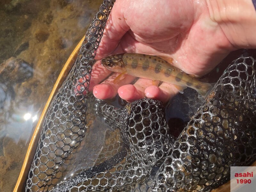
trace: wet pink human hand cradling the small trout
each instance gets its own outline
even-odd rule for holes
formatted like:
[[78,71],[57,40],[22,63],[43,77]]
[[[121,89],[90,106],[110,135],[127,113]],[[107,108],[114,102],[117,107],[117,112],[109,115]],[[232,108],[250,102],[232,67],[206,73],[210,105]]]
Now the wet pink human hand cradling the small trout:
[[[202,76],[211,71],[236,47],[222,27],[210,18],[208,1],[117,0],[109,16],[96,58],[124,52],[164,55],[174,58],[178,68]],[[98,99],[119,96],[127,101],[143,97],[168,101],[178,90],[168,83],[159,87],[152,80],[134,77],[113,83],[118,74],[96,62],[90,91]]]

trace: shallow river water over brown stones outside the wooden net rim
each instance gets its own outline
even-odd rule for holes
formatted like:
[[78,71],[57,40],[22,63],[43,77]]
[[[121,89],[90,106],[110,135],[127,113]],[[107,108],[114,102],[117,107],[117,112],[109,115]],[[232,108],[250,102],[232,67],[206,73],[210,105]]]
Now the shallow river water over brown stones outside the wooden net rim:
[[101,0],[0,1],[0,191],[12,191],[52,87]]

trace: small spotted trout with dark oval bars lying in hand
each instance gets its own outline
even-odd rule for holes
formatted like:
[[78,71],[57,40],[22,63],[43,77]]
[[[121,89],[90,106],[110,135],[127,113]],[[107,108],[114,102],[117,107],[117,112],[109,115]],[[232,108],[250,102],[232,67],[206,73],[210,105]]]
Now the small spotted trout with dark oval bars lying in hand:
[[101,64],[108,70],[121,73],[121,75],[128,74],[176,84],[184,88],[190,87],[204,97],[212,88],[212,84],[198,81],[157,56],[137,53],[117,54],[104,57],[101,59]]

